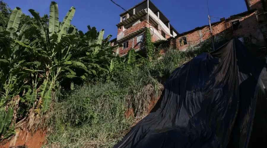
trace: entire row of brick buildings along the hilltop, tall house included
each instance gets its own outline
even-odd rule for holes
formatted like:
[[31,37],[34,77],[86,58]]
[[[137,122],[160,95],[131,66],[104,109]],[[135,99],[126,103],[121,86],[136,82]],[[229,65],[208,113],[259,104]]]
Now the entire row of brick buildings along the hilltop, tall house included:
[[148,19],[152,42],[168,40],[170,47],[174,49],[186,50],[189,46],[200,44],[212,36],[215,40],[237,37],[246,45],[256,45],[253,48],[264,49],[267,36],[267,0],[245,0],[245,3],[248,11],[226,19],[220,18],[220,21],[212,23],[211,35],[209,25],[178,33],[150,0],[149,8],[147,0],[144,0],[120,14],[117,38],[111,41],[111,45],[123,45],[115,51],[120,56],[126,55],[132,48],[145,56],[144,31],[147,29]]

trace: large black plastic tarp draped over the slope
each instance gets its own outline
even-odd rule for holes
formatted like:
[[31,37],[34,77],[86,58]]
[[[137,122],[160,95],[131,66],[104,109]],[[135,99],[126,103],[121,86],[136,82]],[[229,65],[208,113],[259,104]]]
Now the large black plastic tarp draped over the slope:
[[238,39],[177,68],[115,148],[267,147],[265,63]]

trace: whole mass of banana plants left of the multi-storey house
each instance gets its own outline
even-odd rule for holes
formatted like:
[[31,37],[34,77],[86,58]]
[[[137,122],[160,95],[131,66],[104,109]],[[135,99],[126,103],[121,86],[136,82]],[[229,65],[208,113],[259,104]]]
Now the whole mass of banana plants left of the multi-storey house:
[[56,90],[63,96],[88,79],[108,80],[114,61],[120,59],[113,54],[117,46],[109,46],[111,35],[103,38],[104,30],[88,26],[83,34],[70,25],[74,7],[59,23],[58,6],[51,2],[48,26],[33,9],[29,12],[39,29],[28,21],[18,30],[19,7],[12,11],[6,30],[0,27],[0,135],[6,135],[9,126],[13,131],[20,128],[16,123],[25,119],[33,122],[29,130],[36,128],[38,122],[29,117],[39,120]]

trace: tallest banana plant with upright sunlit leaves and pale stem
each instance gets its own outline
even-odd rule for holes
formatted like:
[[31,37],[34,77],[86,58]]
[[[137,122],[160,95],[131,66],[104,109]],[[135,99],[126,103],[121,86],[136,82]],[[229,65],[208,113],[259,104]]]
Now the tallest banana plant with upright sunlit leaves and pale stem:
[[[61,78],[64,77],[63,71],[77,64],[75,62],[69,64],[71,50],[75,41],[78,39],[73,35],[73,30],[75,30],[74,26],[70,25],[75,11],[76,9],[71,7],[64,17],[63,22],[59,24],[58,4],[52,1],[50,4],[49,24],[48,28],[46,28],[39,14],[35,10],[29,9],[29,12],[34,16],[37,24],[40,26],[41,34],[40,41],[38,42],[39,46],[33,48],[38,49],[38,59],[45,59],[42,61],[42,66],[40,66],[42,69],[45,69],[45,73],[42,73],[45,79],[43,79],[42,85],[40,86],[41,91],[36,94],[37,97],[40,98],[36,108],[37,112],[40,112],[41,107],[43,112],[47,111],[53,91],[58,83],[60,83]],[[62,64],[64,64],[64,62],[68,62],[68,64],[65,63],[63,66]],[[84,68],[82,66],[80,67]],[[74,75],[66,75],[66,77],[74,77]],[[32,91],[29,93],[29,96],[34,96],[34,93],[35,92]]]

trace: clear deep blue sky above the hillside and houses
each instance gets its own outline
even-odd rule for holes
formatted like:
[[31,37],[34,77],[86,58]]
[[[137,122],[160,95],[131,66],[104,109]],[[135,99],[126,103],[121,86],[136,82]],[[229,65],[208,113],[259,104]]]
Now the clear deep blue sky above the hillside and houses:
[[[113,0],[125,9],[133,7],[142,0]],[[170,20],[171,25],[179,32],[208,25],[208,7],[206,0],[151,0]],[[28,9],[34,9],[40,15],[48,14],[50,0],[4,0],[11,9],[20,7],[23,13],[30,15]],[[59,20],[62,21],[67,11],[74,6],[76,13],[71,24],[83,32],[87,25],[97,30],[105,29],[105,35],[117,36],[116,24],[123,10],[110,0],[55,0],[59,7]],[[247,11],[244,0],[208,0],[211,16],[229,17]],[[212,22],[219,21],[212,18]]]

